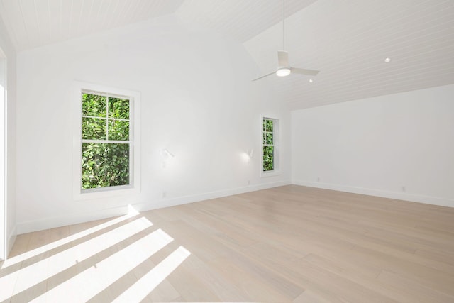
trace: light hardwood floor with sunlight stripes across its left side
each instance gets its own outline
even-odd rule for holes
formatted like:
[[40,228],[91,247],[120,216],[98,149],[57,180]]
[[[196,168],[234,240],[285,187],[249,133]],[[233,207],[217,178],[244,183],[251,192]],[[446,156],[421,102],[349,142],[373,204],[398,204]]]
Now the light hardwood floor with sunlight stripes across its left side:
[[1,293],[0,302],[454,302],[454,208],[290,185],[38,231],[18,236]]

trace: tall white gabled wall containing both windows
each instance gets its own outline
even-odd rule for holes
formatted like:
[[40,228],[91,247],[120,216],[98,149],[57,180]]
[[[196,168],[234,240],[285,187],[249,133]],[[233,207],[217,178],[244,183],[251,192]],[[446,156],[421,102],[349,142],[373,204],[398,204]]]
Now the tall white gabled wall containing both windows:
[[[19,53],[19,233],[113,216],[127,204],[151,209],[288,184],[288,158],[281,175],[260,178],[260,114],[281,119],[287,155],[290,114],[266,82],[250,81],[259,74],[242,45],[174,16]],[[140,92],[137,196],[74,201],[74,80]],[[175,155],[165,168],[162,148]]]

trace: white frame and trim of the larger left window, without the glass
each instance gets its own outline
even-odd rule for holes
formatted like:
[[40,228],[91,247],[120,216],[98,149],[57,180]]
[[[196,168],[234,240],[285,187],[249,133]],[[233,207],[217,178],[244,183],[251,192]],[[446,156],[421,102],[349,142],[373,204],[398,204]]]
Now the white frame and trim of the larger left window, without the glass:
[[[109,97],[129,99],[129,184],[112,187],[82,189],[82,94],[92,93]],[[96,199],[102,197],[123,196],[140,192],[140,93],[106,87],[103,85],[74,82],[73,87],[73,198],[75,200]],[[106,117],[108,118],[108,117]],[[111,140],[93,140],[99,143],[112,143]],[[101,142],[102,141],[102,142]],[[115,141],[116,142],[116,141]],[[124,141],[123,141],[124,142]],[[125,143],[123,143],[125,144]]]

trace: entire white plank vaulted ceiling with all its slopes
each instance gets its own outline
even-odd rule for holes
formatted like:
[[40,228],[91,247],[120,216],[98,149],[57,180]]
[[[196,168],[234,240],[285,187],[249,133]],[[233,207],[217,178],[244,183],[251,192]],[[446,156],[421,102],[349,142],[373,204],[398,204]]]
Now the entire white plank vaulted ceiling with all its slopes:
[[[292,109],[454,84],[453,0],[285,4],[290,64],[321,72],[258,81]],[[0,0],[18,51],[170,13],[243,43],[263,74],[275,70],[283,37],[279,0]]]

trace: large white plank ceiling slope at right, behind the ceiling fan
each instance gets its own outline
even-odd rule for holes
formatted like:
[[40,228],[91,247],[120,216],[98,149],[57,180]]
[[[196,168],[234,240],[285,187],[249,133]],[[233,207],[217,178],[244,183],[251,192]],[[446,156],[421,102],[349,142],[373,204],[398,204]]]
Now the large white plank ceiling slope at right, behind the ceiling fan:
[[[265,79],[291,109],[454,84],[452,0],[318,0],[285,27],[292,64],[321,70],[313,82]],[[273,70],[282,24],[244,45],[262,72]]]

